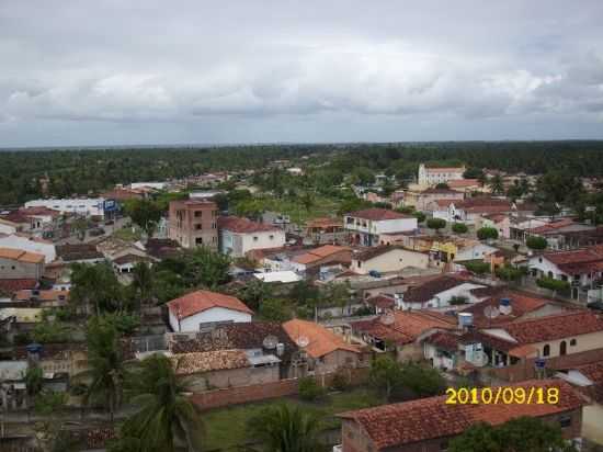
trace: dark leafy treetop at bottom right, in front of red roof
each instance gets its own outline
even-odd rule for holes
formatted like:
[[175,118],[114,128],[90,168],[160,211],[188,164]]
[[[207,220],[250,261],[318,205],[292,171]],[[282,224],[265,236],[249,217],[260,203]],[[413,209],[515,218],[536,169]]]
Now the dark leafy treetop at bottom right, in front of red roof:
[[521,417],[492,427],[476,423],[454,438],[450,452],[576,452],[561,428],[538,418]]

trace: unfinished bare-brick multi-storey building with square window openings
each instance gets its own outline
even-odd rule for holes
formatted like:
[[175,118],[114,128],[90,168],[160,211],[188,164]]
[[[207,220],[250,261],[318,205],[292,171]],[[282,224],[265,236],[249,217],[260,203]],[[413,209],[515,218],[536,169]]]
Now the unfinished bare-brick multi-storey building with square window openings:
[[168,237],[182,248],[218,249],[218,207],[211,201],[172,201]]

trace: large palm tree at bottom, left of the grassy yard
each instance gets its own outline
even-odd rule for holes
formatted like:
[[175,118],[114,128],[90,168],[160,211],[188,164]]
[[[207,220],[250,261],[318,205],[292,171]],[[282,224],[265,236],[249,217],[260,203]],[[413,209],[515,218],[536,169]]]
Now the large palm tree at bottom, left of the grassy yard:
[[153,354],[130,376],[132,403],[139,409],[124,423],[124,440],[135,439],[140,451],[201,451],[204,428],[200,409],[184,395],[186,386],[177,380],[170,360]]

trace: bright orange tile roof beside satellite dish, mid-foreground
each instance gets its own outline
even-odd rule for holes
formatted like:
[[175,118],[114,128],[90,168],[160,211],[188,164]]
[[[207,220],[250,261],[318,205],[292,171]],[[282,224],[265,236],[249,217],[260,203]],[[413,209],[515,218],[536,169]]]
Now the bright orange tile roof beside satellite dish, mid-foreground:
[[312,358],[320,358],[337,350],[361,352],[357,347],[345,342],[340,336],[314,321],[294,319],[284,323],[283,328],[296,343],[302,336],[308,338],[309,343],[305,350]]

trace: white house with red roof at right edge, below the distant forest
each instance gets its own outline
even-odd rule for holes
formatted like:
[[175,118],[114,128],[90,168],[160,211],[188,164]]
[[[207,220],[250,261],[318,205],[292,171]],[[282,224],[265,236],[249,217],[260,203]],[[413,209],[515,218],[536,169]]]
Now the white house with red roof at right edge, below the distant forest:
[[527,265],[533,276],[568,281],[572,297],[579,298],[580,289],[595,289],[603,275],[603,245],[544,252],[531,257]]

